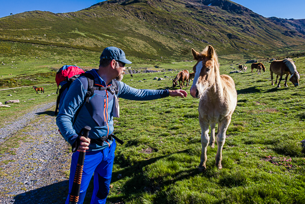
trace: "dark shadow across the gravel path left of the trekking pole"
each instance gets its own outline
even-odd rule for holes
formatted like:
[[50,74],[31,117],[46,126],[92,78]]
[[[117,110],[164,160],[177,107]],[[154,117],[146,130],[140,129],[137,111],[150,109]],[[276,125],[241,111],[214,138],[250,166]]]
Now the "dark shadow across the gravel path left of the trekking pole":
[[68,183],[68,180],[62,181],[16,195],[14,203],[65,203],[68,196]]

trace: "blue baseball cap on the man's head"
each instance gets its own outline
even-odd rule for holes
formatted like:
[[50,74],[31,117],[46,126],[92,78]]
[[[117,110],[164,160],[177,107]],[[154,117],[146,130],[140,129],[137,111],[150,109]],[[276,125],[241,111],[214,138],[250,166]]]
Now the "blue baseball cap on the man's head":
[[132,64],[126,59],[125,52],[117,47],[106,47],[100,56],[100,66],[108,66],[109,63],[115,60],[120,62],[125,67],[125,64]]

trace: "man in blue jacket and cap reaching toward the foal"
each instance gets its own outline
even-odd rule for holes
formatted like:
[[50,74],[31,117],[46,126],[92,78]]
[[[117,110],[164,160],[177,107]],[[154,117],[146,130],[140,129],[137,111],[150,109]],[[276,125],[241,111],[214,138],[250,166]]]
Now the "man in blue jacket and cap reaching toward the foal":
[[[85,76],[80,76],[71,83],[59,109],[56,124],[75,151],[70,167],[69,194],[72,190],[79,151],[86,152],[78,203],[83,203],[93,174],[94,190],[91,203],[106,202],[116,141],[120,141],[112,135],[113,116],[119,116],[118,97],[129,100],[154,100],[168,96],[187,97],[184,90],[140,90],[121,82],[125,65],[131,63],[126,59],[123,50],[117,47],[105,48],[100,56],[99,69],[86,72],[93,75],[95,89],[101,88],[101,90],[95,90],[95,94],[84,101],[88,80]],[[75,115],[77,111],[78,116]],[[84,126],[91,128],[88,138],[77,134]],[[66,203],[69,203],[69,195]]]

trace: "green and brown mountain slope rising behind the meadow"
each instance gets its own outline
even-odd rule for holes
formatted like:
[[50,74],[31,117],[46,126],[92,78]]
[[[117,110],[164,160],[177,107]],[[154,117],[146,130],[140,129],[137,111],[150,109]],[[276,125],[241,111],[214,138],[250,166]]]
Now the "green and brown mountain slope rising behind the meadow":
[[137,57],[179,59],[207,44],[219,54],[246,55],[303,45],[304,24],[265,18],[226,0],[112,0],[71,13],[0,18],[0,40],[94,51],[113,45]]

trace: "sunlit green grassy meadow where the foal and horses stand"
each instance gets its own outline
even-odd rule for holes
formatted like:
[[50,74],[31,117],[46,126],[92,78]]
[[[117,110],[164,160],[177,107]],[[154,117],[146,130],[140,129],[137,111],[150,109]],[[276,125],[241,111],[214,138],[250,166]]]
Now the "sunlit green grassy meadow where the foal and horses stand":
[[[74,60],[79,61],[76,64],[81,67],[97,67],[93,57],[88,57],[92,64],[84,63],[86,59],[69,58],[70,62],[60,59],[57,63],[54,57],[49,59],[50,62],[47,58],[11,60],[20,65],[20,71],[13,72],[14,75],[8,75],[12,63],[0,65],[1,73],[6,73],[4,79],[12,79],[11,85],[1,85],[1,89],[18,86],[18,89],[0,91],[0,102],[20,100],[18,104],[11,104],[11,108],[0,109],[0,127],[16,118],[17,112],[22,115],[32,107],[55,101],[56,94],[53,93],[57,86],[54,78],[56,69],[62,66],[60,61],[69,64]],[[28,64],[23,64],[25,60]],[[36,66],[38,60],[43,63]],[[215,166],[217,147],[208,147],[207,169],[198,171],[201,154],[199,100],[191,97],[190,87],[184,88],[189,94],[187,98],[120,99],[120,118],[114,119],[114,133],[125,143],[117,144],[107,203],[117,200],[147,204],[305,203],[305,154],[300,143],[305,139],[305,57],[293,60],[301,75],[300,85],[295,88],[287,82],[286,88],[282,81],[279,89],[271,85],[266,61],[262,61],[266,72],[258,75],[251,73],[251,64],[248,64],[246,73],[229,74],[238,69],[238,63],[246,61],[220,60],[221,74],[234,79],[238,94],[227,130],[221,170]],[[154,63],[162,69],[189,71],[195,64],[149,62],[145,65],[141,62],[135,66],[154,67]],[[32,67],[37,68],[36,73],[25,71]],[[140,73],[133,74],[133,78],[125,75],[123,81],[138,89],[172,89],[171,79],[177,73]],[[22,74],[29,78],[28,81],[18,78]],[[153,80],[156,76],[165,80]],[[36,94],[32,89],[34,84],[44,85],[45,93]],[[7,96],[9,94],[13,96]],[[33,98],[35,100],[28,100]],[[92,188],[93,183],[89,191]],[[85,203],[89,202],[87,197]]]

